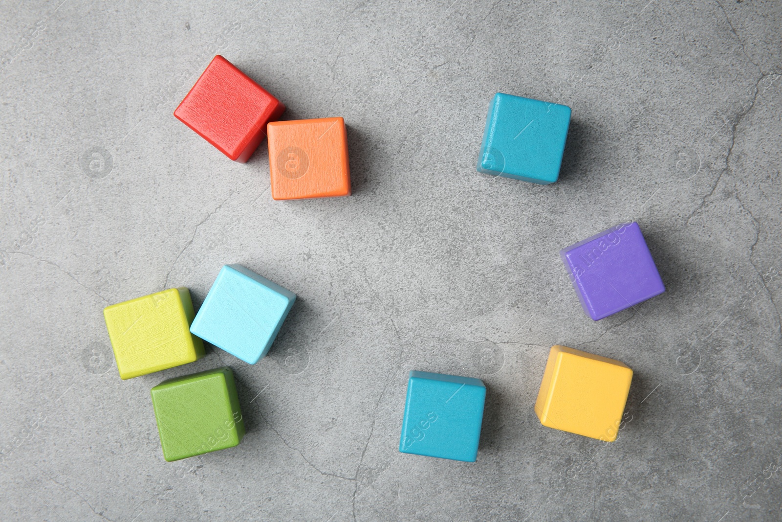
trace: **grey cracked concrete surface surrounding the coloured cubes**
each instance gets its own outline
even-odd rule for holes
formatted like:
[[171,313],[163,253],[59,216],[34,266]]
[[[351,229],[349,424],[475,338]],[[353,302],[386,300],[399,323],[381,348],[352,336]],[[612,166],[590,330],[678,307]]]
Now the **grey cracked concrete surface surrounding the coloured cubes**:
[[[0,2],[2,520],[782,519],[779,2],[60,2]],[[353,196],[172,116],[217,52]],[[556,184],[475,172],[497,91],[572,107]],[[592,322],[558,251],[626,219],[668,291]],[[270,355],[120,381],[102,308],[228,262],[299,296]],[[634,369],[615,443],[540,426],[552,344]],[[166,463],[150,387],[218,365],[249,433]],[[398,452],[410,369],[486,382],[477,463]]]

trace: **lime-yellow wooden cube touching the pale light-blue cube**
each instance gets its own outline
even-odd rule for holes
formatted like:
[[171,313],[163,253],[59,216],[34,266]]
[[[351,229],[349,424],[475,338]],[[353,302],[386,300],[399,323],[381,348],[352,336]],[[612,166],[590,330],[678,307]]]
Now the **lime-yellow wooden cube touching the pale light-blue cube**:
[[203,341],[190,333],[190,291],[171,288],[103,309],[120,378],[194,362],[203,357]]

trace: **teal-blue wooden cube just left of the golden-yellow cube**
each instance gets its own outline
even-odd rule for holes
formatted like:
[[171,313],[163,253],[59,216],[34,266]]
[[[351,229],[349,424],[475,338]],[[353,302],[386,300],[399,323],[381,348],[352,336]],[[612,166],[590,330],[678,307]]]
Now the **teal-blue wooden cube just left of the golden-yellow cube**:
[[485,400],[480,379],[411,372],[399,451],[474,463]]

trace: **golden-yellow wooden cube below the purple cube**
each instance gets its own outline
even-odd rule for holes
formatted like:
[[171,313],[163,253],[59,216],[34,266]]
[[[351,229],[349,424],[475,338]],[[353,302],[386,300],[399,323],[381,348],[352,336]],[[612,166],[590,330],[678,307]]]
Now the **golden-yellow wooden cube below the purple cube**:
[[553,346],[535,412],[543,426],[615,441],[633,370],[622,362]]

